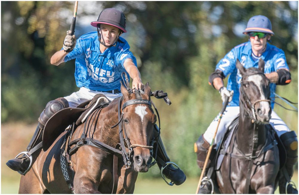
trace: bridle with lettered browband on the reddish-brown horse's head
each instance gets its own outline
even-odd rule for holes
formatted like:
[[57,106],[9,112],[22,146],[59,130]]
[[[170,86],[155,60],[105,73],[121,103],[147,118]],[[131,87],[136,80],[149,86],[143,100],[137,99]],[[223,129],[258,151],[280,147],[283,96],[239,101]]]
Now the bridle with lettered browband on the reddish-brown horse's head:
[[[130,165],[133,162],[133,160],[132,160],[132,158],[133,158],[133,148],[135,148],[135,147],[148,148],[148,149],[150,149],[151,156],[153,156],[153,150],[152,149],[154,148],[155,137],[154,137],[154,134],[153,134],[153,138],[151,140],[151,146],[144,146],[144,145],[140,145],[140,144],[131,144],[130,143],[130,139],[127,136],[126,129],[125,129],[125,123],[124,123],[124,120],[123,120],[123,115],[124,115],[123,110],[125,109],[125,107],[128,107],[130,105],[134,105],[134,104],[147,104],[151,107],[151,101],[148,101],[148,100],[145,100],[145,99],[134,99],[134,100],[126,101],[123,104],[123,106],[121,107],[122,99],[123,99],[123,96],[119,99],[119,109],[118,109],[119,110],[118,111],[119,122],[117,122],[111,128],[114,128],[117,125],[119,125],[120,148],[121,148],[121,151],[122,151],[122,156],[123,156],[123,160],[124,160],[124,163],[126,165],[126,168],[129,168]],[[153,129],[153,131],[154,131],[154,129]],[[124,137],[124,134],[125,134],[125,137]],[[126,151],[126,148],[128,148],[128,152]]]

